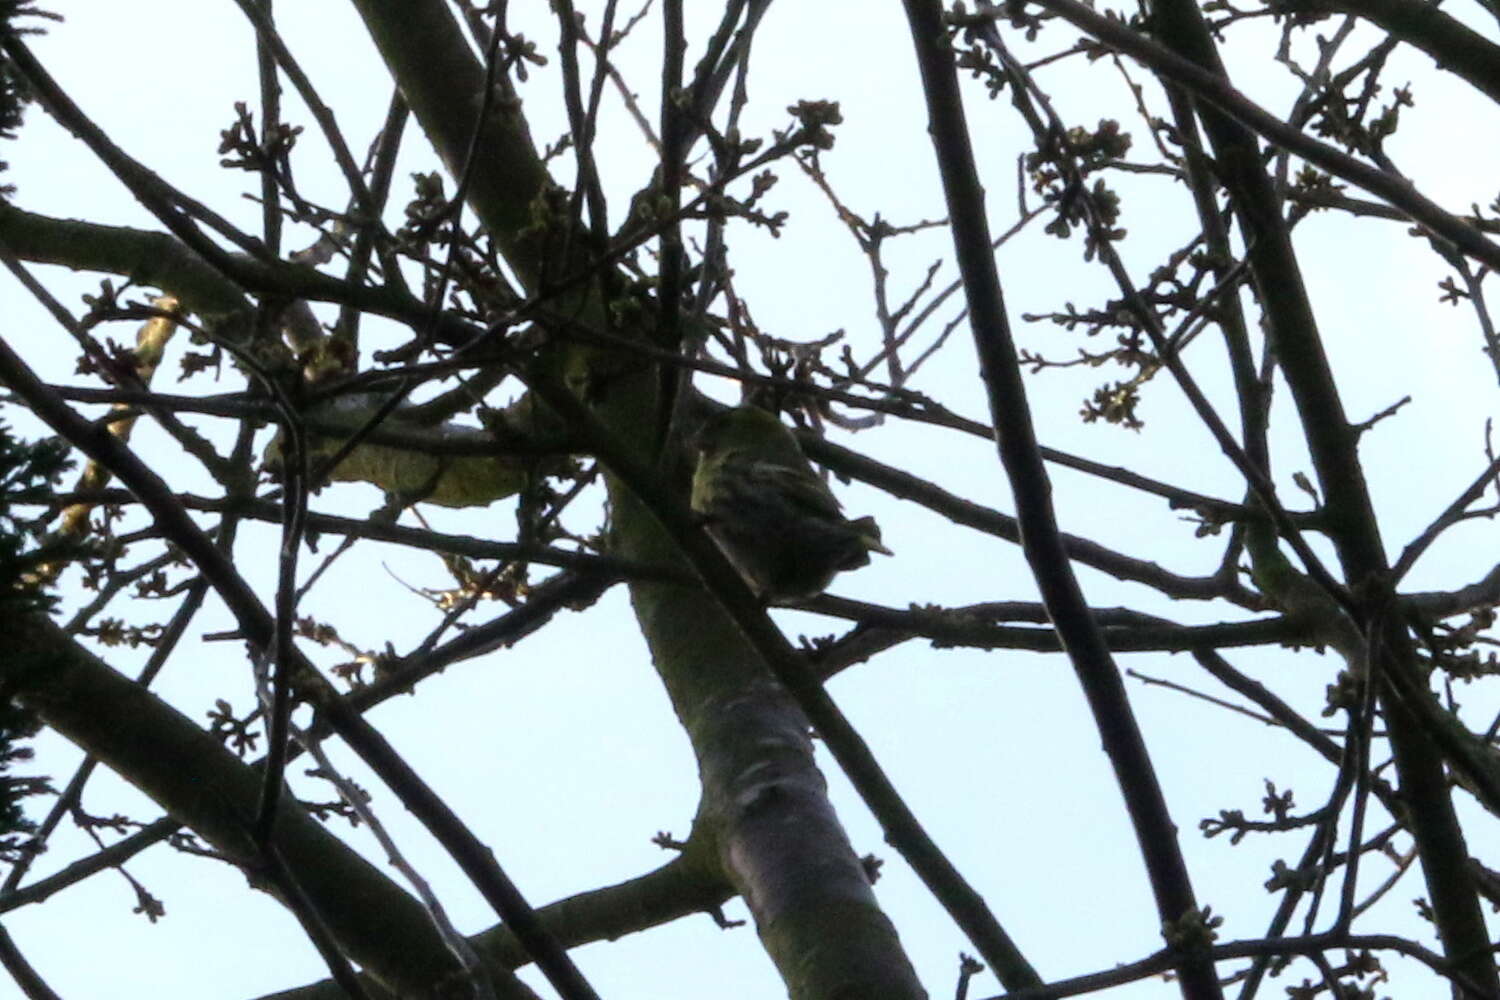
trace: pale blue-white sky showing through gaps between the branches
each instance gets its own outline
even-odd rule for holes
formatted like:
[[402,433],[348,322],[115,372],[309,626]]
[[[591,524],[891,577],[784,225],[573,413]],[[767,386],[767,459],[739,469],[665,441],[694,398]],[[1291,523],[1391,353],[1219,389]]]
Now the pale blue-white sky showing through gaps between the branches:
[[[717,4],[688,6],[696,13]],[[216,153],[219,130],[232,120],[232,103],[248,100],[254,106],[256,93],[252,36],[234,6],[142,0],[69,4],[64,13],[69,19],[51,27],[46,37],[34,42],[34,49],[84,111],[166,180],[246,229],[258,229],[256,205],[242,198],[258,186],[246,174],[220,169]],[[537,22],[544,13],[540,3],[512,4],[512,25],[555,55],[550,28],[544,19]],[[282,3],[278,18],[324,99],[336,108],[351,144],[363,150],[384,115],[390,82],[351,9],[338,3]],[[597,18],[591,24],[597,25]],[[706,28],[704,21],[690,25],[694,43],[690,64]],[[632,85],[652,115],[658,34],[658,13],[652,10],[622,55]],[[1060,45],[1050,40],[1048,51]],[[772,127],[784,127],[786,106],[798,99],[836,99],[843,106],[844,124],[837,129],[837,147],[825,165],[840,196],[856,211],[866,216],[879,211],[897,225],[944,214],[900,4],[856,0],[776,4],[756,52],[746,133],[766,135]],[[1269,52],[1268,42],[1258,49],[1232,52],[1228,61],[1232,70],[1250,73],[1236,79],[1252,96],[1282,112],[1296,82]],[[548,67],[534,70],[522,88],[538,144],[552,142],[564,127],[555,70],[554,58]],[[1134,73],[1137,79],[1146,78],[1138,69]],[[1092,127],[1101,117],[1122,118],[1137,136],[1132,159],[1144,157],[1140,144],[1149,139],[1140,120],[1131,117],[1108,60],[1088,67],[1071,60],[1041,79],[1054,88],[1059,111],[1070,123]],[[1398,54],[1388,79],[1419,81],[1418,106],[1392,145],[1401,166],[1450,210],[1492,199],[1492,136],[1500,124],[1494,109],[1473,108],[1472,114],[1486,117],[1464,118],[1474,102],[1462,88],[1434,79],[1424,58]],[[1029,147],[1004,99],[986,103],[981,91],[970,97],[970,126],[987,169],[992,228],[1000,231],[1016,219],[1016,159]],[[342,204],[338,174],[316,129],[291,94],[286,114],[309,126],[297,159],[303,190],[328,204]],[[1455,121],[1466,121],[1466,127],[1455,129]],[[1466,144],[1473,148],[1466,150]],[[650,175],[652,165],[650,148],[618,102],[608,105],[600,150],[618,222],[628,193]],[[158,228],[81,144],[39,109],[33,109],[21,139],[0,150],[0,156],[12,163],[6,180],[18,186],[15,201],[26,208]],[[408,196],[404,180],[410,171],[434,166],[434,157],[412,129],[393,205]],[[782,184],[771,195],[771,207],[790,211],[790,223],[778,240],[734,226],[738,291],[759,325],[778,337],[813,340],[844,330],[856,355],[868,355],[878,343],[868,265],[798,171],[788,163],[778,172]],[[1140,280],[1162,252],[1191,234],[1194,223],[1184,214],[1186,201],[1172,181],[1140,180],[1130,186],[1130,195],[1122,220],[1131,231],[1125,255],[1140,268]],[[288,246],[306,241],[310,241],[306,231],[292,228]],[[1402,235],[1400,223],[1350,225],[1317,217],[1298,231],[1298,249],[1322,310],[1335,370],[1344,373],[1341,388],[1350,417],[1360,420],[1401,396],[1414,397],[1400,418],[1383,424],[1365,444],[1377,502],[1389,526],[1388,546],[1395,552],[1480,468],[1484,421],[1496,402],[1494,370],[1478,351],[1472,313],[1437,303],[1436,282],[1442,271],[1420,241]],[[892,244],[888,258],[892,294],[908,294],[927,264],[946,255],[944,231]],[[1023,343],[1053,357],[1068,357],[1077,346],[1098,349],[1100,345],[1080,343],[1044,324],[1018,319],[1024,312],[1059,309],[1065,301],[1092,306],[1107,295],[1107,276],[1082,261],[1080,240],[1062,243],[1032,232],[1014,247],[1002,249],[999,262]],[[78,295],[99,280],[56,268],[38,270],[75,307]],[[952,267],[945,264],[938,282],[952,277]],[[951,309],[942,313],[951,315]],[[368,328],[370,348],[402,339],[390,327]],[[48,378],[82,381],[72,373],[74,351],[66,334],[9,276],[0,277],[0,336],[24,349]],[[114,336],[128,340],[134,331],[122,325]],[[982,420],[981,385],[964,336],[964,331],[954,336],[914,388]],[[183,348],[177,345],[174,351]],[[1214,363],[1216,348],[1204,348],[1203,354],[1208,384],[1222,388],[1227,382],[1222,366]],[[174,388],[176,370],[176,358],[170,357],[162,388]],[[1148,397],[1143,432],[1083,426],[1077,420],[1080,400],[1098,381],[1102,376],[1095,370],[1030,381],[1046,444],[1238,499],[1233,469],[1191,418],[1176,390],[1166,384],[1154,387]],[[210,390],[204,382],[190,382],[184,391],[231,387]],[[724,394],[723,387],[705,387]],[[1286,406],[1284,393],[1280,403]],[[8,415],[16,418],[14,411]],[[1284,456],[1280,486],[1284,496],[1300,499],[1290,474],[1308,466],[1299,459],[1290,429],[1284,423],[1278,435],[1278,456]],[[982,441],[898,423],[838,439],[932,477],[962,496],[1011,510],[999,463]],[[192,469],[171,457],[174,448],[152,427],[141,427],[135,447],[159,462],[176,462],[162,468],[174,484],[207,489],[201,477],[195,478]],[[1056,486],[1066,531],[1182,573],[1204,573],[1216,558],[1210,547],[1194,544],[1192,525],[1164,504],[1064,471],[1056,472]],[[1012,547],[956,532],[934,516],[868,489],[838,486],[838,490],[850,513],[879,517],[896,556],[840,577],[834,592],[892,607],[914,601],[1035,600],[1035,588]],[[340,486],[316,498],[315,508],[362,516],[380,502],[372,487]],[[426,513],[435,528],[496,538],[514,532],[504,505]],[[576,526],[591,528],[582,522]],[[326,540],[324,552],[332,544]],[[242,534],[238,565],[264,595],[273,591],[273,546],[272,528],[246,526]],[[1492,525],[1472,525],[1440,544],[1413,573],[1408,588],[1449,588],[1478,579],[1492,565],[1494,550]],[[309,556],[304,567],[316,562],[316,556]],[[1088,570],[1080,576],[1090,603],[1100,607],[1130,604],[1178,621],[1215,621],[1222,615],[1221,609],[1150,600],[1154,595],[1143,588]],[[422,640],[436,616],[408,588],[442,586],[444,580],[434,556],[362,546],[334,565],[303,607],[336,624],[362,646],[390,642],[405,651]],[[68,594],[76,597],[76,586]],[[777,616],[792,637],[840,631],[837,622],[808,615],[778,612]],[[195,622],[194,634],[226,627],[226,616],[214,604]],[[128,673],[144,660],[144,651],[106,655]],[[1258,651],[1234,661],[1314,718],[1335,669],[1332,660],[1286,651]],[[1120,666],[1209,688],[1185,657],[1120,657]],[[200,720],[216,697],[231,697],[244,711],[250,705],[246,667],[237,645],[194,643],[174,658],[160,690]],[[1274,859],[1292,859],[1300,852],[1300,838],[1250,838],[1232,847],[1224,838],[1204,841],[1196,832],[1197,822],[1220,808],[1254,814],[1268,777],[1278,784],[1292,783],[1299,805],[1311,807],[1326,795],[1332,772],[1294,741],[1258,723],[1161,688],[1132,685],[1131,691],[1182,829],[1200,901],[1227,918],[1221,931],[1226,939],[1262,934],[1275,898],[1258,891],[1258,883],[1269,877]],[[1132,835],[1065,661],[909,643],[840,676],[832,693],[936,841],[987,895],[996,916],[1046,978],[1108,969],[1160,946]],[[1479,693],[1466,691],[1466,697],[1478,699]],[[687,741],[618,588],[596,607],[560,618],[514,649],[459,664],[424,682],[420,697],[398,699],[374,718],[418,772],[450,796],[534,904],[657,867],[666,858],[650,838],[657,831],[686,837],[696,807],[698,784]],[[51,738],[44,738],[40,747],[45,769],[64,781],[76,753]],[[348,763],[346,756],[344,760]],[[882,844],[879,829],[832,762],[824,763],[855,849],[878,853],[886,862],[876,891],[927,988],[934,997],[951,996],[957,954],[972,949]],[[357,768],[352,771],[358,774]],[[328,798],[326,789],[306,783],[300,790],[309,798]],[[118,810],[146,822],[159,814],[110,775],[94,778],[86,805],[96,814]],[[440,886],[464,931],[478,931],[495,921],[392,796],[376,790],[375,808],[399,834],[417,867]],[[1494,825],[1480,820],[1473,829],[1490,832]],[[348,838],[380,861],[363,831]],[[46,874],[88,850],[80,834],[64,828],[34,874]],[[1371,868],[1383,874],[1380,864]],[[290,915],[267,897],[248,892],[244,879],[232,870],[158,847],[135,859],[130,871],[162,898],[164,921],[152,925],[132,916],[129,886],[110,873],[42,907],[6,915],[6,928],[63,997],[255,997],[322,978],[320,960]],[[1390,915],[1410,913],[1410,900],[1420,894],[1413,877],[1377,907],[1372,925],[1390,927]],[[736,901],[729,915],[744,918],[746,912]],[[1395,921],[1404,921],[1400,925],[1407,933],[1430,940],[1414,919]],[[720,931],[699,916],[621,942],[591,945],[576,957],[604,997],[783,996],[753,934],[748,927]],[[1400,988],[1406,972],[1400,960],[1390,958],[1389,966],[1395,978],[1382,993],[1420,996]],[[530,970],[524,975],[543,996],[550,996],[538,976]],[[1426,982],[1431,988],[1425,973],[1406,982]],[[0,985],[0,996],[6,996],[6,988]],[[970,996],[994,991],[993,979],[986,975]],[[1172,993],[1173,987],[1158,982],[1112,996]]]

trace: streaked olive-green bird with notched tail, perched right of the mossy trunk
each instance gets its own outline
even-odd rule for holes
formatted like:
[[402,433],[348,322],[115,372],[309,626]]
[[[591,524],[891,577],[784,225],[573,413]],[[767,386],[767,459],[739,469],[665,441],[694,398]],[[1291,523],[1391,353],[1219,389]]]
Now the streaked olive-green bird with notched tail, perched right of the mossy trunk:
[[711,417],[698,435],[693,510],[758,595],[816,597],[880,544],[873,517],[849,520],[790,429],[756,406]]

